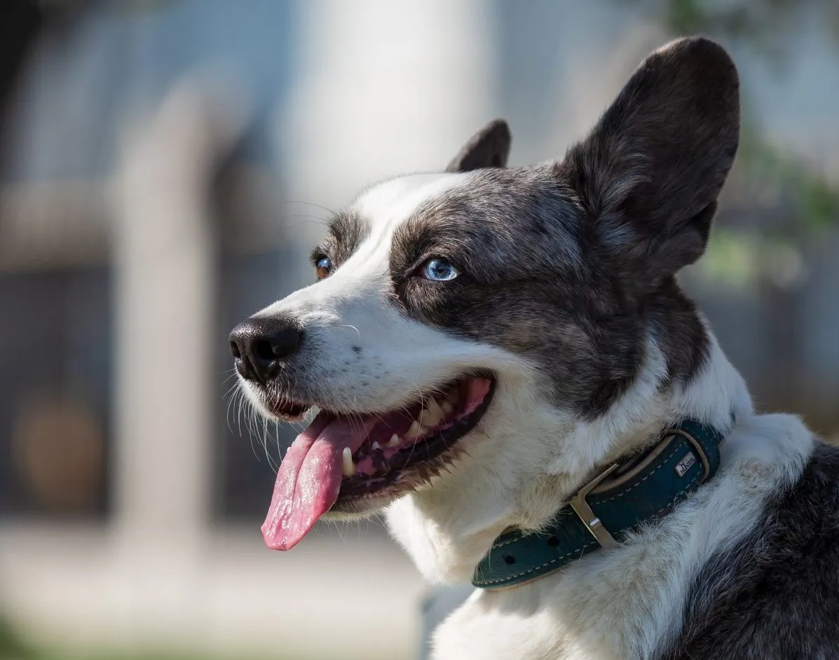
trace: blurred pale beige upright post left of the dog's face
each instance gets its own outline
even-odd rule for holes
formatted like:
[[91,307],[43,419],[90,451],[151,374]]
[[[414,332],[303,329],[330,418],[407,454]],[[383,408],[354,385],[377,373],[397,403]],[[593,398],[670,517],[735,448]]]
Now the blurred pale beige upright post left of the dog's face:
[[210,522],[221,402],[208,195],[242,125],[216,96],[197,79],[176,87],[127,139],[117,174],[114,528],[140,552],[188,547]]

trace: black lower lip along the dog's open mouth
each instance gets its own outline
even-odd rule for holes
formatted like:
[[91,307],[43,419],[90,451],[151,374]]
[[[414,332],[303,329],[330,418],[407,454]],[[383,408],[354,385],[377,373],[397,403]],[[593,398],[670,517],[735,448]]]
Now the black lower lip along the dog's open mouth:
[[[450,429],[431,438],[420,440],[417,444],[406,447],[389,462],[404,456],[404,467],[391,470],[387,475],[369,478],[354,476],[341,481],[338,499],[332,505],[331,512],[358,512],[359,504],[365,499],[395,496],[410,491],[430,480],[457,455],[457,442],[468,434],[481,421],[492,403],[497,381],[494,376],[485,373],[470,377],[487,378],[490,381],[489,392],[482,403],[467,417],[457,420]],[[461,379],[462,380],[462,379]],[[363,508],[363,507],[362,507]]]

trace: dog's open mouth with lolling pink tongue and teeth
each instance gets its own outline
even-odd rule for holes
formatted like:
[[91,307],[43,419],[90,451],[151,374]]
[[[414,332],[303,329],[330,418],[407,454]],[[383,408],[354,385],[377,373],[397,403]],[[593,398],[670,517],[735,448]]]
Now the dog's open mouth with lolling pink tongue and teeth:
[[[398,410],[322,410],[279,467],[262,527],[268,548],[294,547],[328,511],[358,511],[364,499],[382,501],[427,483],[453,460],[457,440],[480,421],[494,391],[491,376],[468,376]],[[277,412],[286,417],[305,412],[284,408]]]

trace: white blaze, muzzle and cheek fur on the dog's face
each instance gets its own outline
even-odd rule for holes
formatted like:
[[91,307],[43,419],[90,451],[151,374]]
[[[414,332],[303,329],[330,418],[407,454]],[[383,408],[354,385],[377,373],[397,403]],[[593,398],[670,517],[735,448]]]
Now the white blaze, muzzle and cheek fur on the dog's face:
[[[393,232],[422,202],[467,184],[469,177],[420,174],[368,190],[353,210],[370,231],[352,257],[329,278],[258,314],[291,314],[300,320],[306,341],[316,351],[316,360],[306,362],[306,385],[316,392],[318,403],[331,410],[384,412],[468,370],[483,368],[498,376],[492,405],[477,428],[460,440],[469,453],[463,459],[468,466],[465,471],[455,466],[451,474],[438,477],[430,491],[432,499],[453,497],[450,504],[462,514],[456,527],[467,535],[480,530],[483,539],[456,571],[443,570],[451,577],[466,574],[469,562],[480,557],[492,534],[516,520],[515,493],[523,481],[531,481],[536,471],[544,469],[545,460],[557,458],[556,429],[571,424],[539,396],[543,391],[539,377],[521,357],[409,320],[387,299]],[[258,393],[247,382],[244,385],[263,409]],[[520,433],[531,438],[532,446],[508,442]]]

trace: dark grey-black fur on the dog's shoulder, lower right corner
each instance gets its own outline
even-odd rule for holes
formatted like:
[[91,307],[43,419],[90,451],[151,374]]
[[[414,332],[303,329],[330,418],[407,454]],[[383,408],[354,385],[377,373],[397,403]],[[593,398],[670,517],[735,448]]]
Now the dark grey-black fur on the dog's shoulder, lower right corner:
[[839,657],[839,448],[817,441],[753,532],[706,563],[659,657]]

